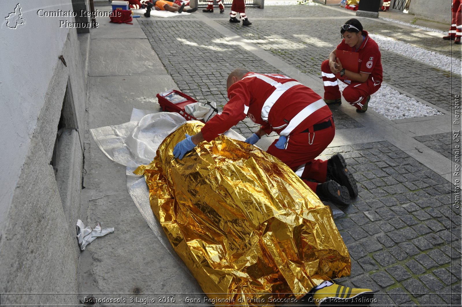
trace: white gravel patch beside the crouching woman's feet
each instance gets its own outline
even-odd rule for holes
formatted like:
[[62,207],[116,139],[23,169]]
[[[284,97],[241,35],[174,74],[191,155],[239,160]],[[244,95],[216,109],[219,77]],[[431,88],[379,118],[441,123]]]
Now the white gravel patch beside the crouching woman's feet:
[[[339,80],[339,87],[343,91],[346,84]],[[368,107],[390,120],[443,115],[437,109],[407,97],[385,84],[371,95]]]

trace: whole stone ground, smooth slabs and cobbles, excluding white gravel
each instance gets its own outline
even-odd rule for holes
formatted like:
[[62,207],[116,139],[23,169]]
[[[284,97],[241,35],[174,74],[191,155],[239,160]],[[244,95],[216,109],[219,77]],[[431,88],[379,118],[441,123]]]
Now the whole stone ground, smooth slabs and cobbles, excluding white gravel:
[[[321,62],[340,43],[339,26],[354,12],[321,5],[265,6],[247,9],[252,25],[244,27],[228,21],[229,10],[136,18],[134,25],[95,29],[87,128],[127,122],[132,108],[160,111],[155,95],[168,88],[222,106],[226,78],[237,67],[285,74],[323,94]],[[371,34],[461,58],[460,47],[443,35],[381,18],[359,20]],[[109,52],[121,45],[139,49]],[[102,61],[126,64],[105,71],[98,68]],[[461,76],[386,50],[382,64],[385,84],[444,114],[391,121],[371,108],[359,114],[346,102],[332,108],[336,136],[322,157],[341,153],[359,186],[352,205],[343,212],[334,208],[352,260],[351,276],[337,282],[376,291],[372,306],[459,306],[461,209],[451,199],[456,160],[450,112],[451,92],[460,94]],[[258,127],[247,119],[233,129],[249,137]],[[118,227],[82,254],[81,292],[203,297],[137,212],[125,189],[125,168],[107,159],[86,135],[88,218]],[[256,145],[266,148],[276,138],[270,135]],[[184,300],[177,298],[175,304],[180,303]]]

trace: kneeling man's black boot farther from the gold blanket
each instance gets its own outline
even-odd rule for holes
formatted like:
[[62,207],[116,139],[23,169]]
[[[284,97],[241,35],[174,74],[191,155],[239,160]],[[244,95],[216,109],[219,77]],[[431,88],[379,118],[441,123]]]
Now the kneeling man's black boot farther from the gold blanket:
[[345,186],[352,198],[358,196],[358,185],[353,174],[346,167],[345,158],[341,154],[334,154],[327,160],[327,180],[334,180]]

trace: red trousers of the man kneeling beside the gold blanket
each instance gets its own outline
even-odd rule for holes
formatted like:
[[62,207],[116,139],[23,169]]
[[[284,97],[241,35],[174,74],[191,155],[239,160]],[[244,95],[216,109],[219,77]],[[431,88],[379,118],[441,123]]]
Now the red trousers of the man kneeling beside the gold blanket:
[[[298,177],[304,179],[304,183],[315,193],[317,184],[326,182],[327,160],[315,158],[334,139],[334,121],[332,117],[329,117],[329,120],[332,122],[331,127],[314,132],[313,127],[310,127],[310,132],[290,135],[287,139],[286,149],[279,149],[274,146],[277,142],[275,140],[266,151],[289,166],[296,172]],[[316,182],[311,182],[307,179],[315,180]]]

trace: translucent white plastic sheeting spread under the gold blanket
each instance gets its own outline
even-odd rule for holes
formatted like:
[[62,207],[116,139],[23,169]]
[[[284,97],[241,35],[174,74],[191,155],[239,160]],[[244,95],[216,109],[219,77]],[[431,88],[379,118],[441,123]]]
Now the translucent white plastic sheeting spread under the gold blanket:
[[[127,166],[127,190],[149,227],[159,241],[176,259],[179,257],[165,236],[164,230],[152,213],[149,190],[145,178],[133,171],[141,164],[149,164],[156,156],[157,148],[165,137],[181,126],[185,119],[178,113],[133,109],[128,123],[90,129],[93,139],[103,153],[119,164]],[[245,138],[228,130],[224,135],[245,141]],[[182,261],[179,260],[182,264]],[[182,264],[183,265],[183,264]]]

